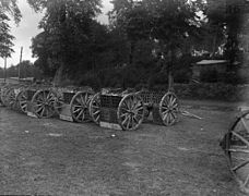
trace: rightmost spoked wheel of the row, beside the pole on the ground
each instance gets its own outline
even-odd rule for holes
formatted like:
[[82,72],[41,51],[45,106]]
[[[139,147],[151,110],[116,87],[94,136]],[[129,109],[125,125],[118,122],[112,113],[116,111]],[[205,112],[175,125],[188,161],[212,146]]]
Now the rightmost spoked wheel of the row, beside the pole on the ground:
[[168,91],[159,102],[159,115],[164,125],[170,126],[177,122],[179,114],[179,102],[174,93]]

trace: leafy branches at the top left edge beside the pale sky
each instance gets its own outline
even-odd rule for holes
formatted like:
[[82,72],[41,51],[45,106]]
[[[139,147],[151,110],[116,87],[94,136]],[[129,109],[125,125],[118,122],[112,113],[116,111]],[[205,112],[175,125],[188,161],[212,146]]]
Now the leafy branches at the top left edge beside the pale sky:
[[13,52],[14,37],[10,33],[10,16],[12,16],[16,24],[21,20],[21,12],[16,4],[16,0],[0,0],[0,57],[11,57]]

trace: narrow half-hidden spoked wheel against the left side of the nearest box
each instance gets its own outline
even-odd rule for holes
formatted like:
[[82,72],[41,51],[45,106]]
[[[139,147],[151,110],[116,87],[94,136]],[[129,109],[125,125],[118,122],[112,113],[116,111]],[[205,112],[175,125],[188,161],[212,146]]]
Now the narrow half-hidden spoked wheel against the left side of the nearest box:
[[92,120],[99,124],[100,120],[100,94],[95,94],[90,102],[90,115]]

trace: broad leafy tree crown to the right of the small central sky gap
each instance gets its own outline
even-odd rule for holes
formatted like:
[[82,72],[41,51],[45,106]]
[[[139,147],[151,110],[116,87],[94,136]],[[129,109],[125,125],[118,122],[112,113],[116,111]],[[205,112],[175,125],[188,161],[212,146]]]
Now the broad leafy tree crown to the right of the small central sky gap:
[[202,0],[114,0],[112,3],[111,24],[121,28],[130,40],[131,54],[137,40],[153,40],[159,50],[163,70],[168,73],[180,56],[182,44],[201,33],[202,20],[198,13],[204,9]]

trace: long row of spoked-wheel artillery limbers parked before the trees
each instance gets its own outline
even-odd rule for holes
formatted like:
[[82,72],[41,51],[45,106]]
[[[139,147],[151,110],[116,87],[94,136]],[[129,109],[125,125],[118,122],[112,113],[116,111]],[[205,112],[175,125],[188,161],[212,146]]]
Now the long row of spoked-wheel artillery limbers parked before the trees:
[[179,102],[171,91],[2,85],[1,105],[35,118],[59,117],[72,122],[93,121],[114,130],[137,130],[151,114],[166,126],[178,121]]

